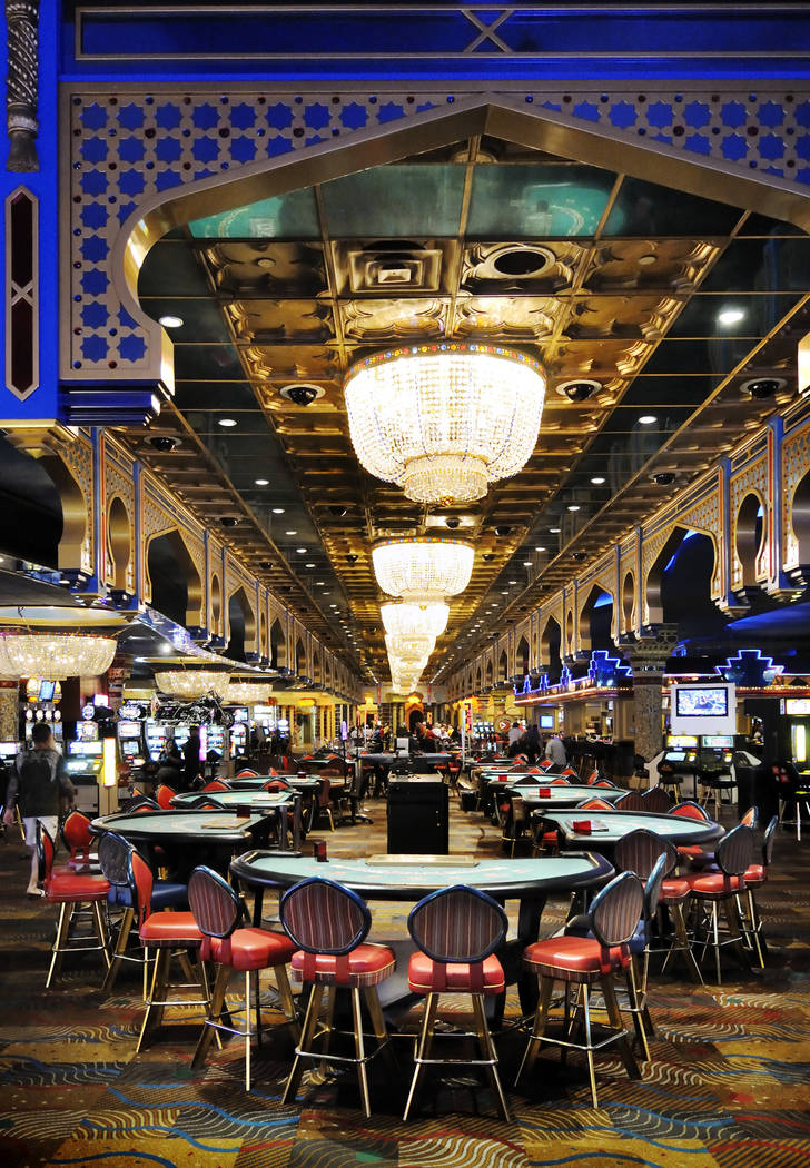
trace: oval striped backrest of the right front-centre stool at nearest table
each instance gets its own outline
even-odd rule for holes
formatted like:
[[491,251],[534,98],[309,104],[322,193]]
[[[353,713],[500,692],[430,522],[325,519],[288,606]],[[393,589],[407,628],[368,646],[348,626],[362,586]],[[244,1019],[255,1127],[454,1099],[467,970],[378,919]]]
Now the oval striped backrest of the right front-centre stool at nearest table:
[[408,916],[408,932],[434,961],[483,961],[500,945],[508,922],[497,901],[468,884],[425,896]]

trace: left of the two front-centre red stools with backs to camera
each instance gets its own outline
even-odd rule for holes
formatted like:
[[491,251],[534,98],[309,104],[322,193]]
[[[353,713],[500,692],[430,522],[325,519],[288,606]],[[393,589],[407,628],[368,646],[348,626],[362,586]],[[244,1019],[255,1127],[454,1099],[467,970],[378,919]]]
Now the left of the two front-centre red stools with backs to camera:
[[[304,1059],[320,1059],[328,1052],[330,1062],[353,1063],[356,1066],[362,1108],[368,1118],[372,1111],[366,1064],[383,1051],[396,1073],[376,992],[378,985],[394,972],[394,954],[386,945],[365,943],[372,926],[368,906],[355,892],[334,881],[318,876],[300,881],[282,897],[279,915],[285,932],[298,946],[292,954],[293,978],[311,987],[300,1043],[296,1047],[282,1103],[288,1104],[296,1098]],[[316,1035],[325,987],[328,987],[327,1008],[323,1028]],[[337,989],[341,987],[351,990],[354,1057],[335,1055],[330,1050],[334,1000]],[[361,996],[376,1038],[376,1047],[368,1055],[362,1030]],[[316,1045],[318,1038],[323,1038],[321,1049]]]

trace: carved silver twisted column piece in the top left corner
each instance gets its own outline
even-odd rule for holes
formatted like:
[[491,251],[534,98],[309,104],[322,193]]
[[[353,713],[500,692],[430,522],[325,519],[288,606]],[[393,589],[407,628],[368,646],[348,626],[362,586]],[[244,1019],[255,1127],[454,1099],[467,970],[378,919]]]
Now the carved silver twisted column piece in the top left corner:
[[40,0],[6,0],[7,171],[40,169],[36,155]]

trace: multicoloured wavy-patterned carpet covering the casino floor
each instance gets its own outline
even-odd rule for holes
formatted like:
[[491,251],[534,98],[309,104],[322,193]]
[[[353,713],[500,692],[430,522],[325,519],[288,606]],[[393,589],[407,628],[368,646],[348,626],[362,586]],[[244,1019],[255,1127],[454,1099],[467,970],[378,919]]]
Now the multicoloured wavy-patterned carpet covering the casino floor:
[[[330,855],[385,850],[385,805],[372,800],[368,809],[373,827],[324,834]],[[496,830],[486,825],[482,836],[479,822],[454,809],[451,850],[497,854]],[[238,1040],[192,1072],[199,1022],[189,1017],[136,1056],[143,1007],[134,971],[109,997],[89,961],[68,965],[56,988],[43,988],[55,913],[26,899],[25,860],[19,835],[7,833],[0,842],[4,1168],[803,1168],[810,1159],[810,841],[797,844],[790,829],[777,837],[760,895],[770,944],[764,974],[741,975],[729,960],[722,987],[655,978],[657,1035],[643,1078],[631,1082],[617,1059],[598,1057],[594,1110],[582,1059],[569,1057],[563,1070],[556,1051],[544,1052],[526,1087],[507,1091],[508,1124],[464,1070],[431,1080],[420,1114],[402,1124],[411,1050],[404,1035],[418,1009],[394,1017],[404,1033],[396,1040],[402,1083],[382,1070],[373,1077],[371,1120],[353,1076],[328,1069],[305,1079],[299,1106],[283,1107],[284,1036],[265,1040],[250,1094]],[[396,906],[373,908],[378,937],[406,936]],[[549,904],[544,932],[559,925],[565,908]],[[506,1022],[517,1013],[510,994]],[[508,1028],[498,1038],[505,1085],[522,1047]]]

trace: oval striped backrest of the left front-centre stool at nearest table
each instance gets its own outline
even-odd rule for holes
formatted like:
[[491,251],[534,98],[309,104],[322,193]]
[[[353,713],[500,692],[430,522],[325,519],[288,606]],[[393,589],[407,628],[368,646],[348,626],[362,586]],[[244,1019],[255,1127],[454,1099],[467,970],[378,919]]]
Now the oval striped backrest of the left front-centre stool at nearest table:
[[290,939],[305,953],[351,953],[372,926],[368,905],[348,888],[310,876],[284,894],[279,916]]

